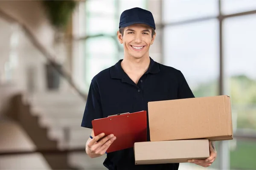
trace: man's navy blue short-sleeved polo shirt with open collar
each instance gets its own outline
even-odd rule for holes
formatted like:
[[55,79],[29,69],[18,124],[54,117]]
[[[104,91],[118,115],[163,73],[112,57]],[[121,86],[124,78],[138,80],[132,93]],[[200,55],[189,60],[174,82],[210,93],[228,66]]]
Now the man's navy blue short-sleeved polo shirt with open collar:
[[[148,102],[195,97],[183,74],[150,58],[148,71],[135,84],[123,71],[122,59],[93,77],[81,126],[117,113],[147,111]],[[171,129],[170,129],[171,130]],[[150,141],[149,128],[147,139]],[[109,170],[177,170],[179,164],[135,165],[133,148],[107,154]]]

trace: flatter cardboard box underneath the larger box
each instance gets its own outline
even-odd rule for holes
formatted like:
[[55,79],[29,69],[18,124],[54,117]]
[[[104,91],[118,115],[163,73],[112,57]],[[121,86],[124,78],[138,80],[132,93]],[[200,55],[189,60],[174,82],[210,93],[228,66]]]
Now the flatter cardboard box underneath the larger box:
[[174,140],[134,143],[135,164],[182,163],[209,157],[209,140]]

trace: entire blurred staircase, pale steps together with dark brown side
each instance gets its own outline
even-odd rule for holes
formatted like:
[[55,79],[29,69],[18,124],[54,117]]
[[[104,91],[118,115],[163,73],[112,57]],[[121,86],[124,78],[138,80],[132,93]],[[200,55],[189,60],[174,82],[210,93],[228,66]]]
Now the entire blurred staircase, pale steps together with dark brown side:
[[[72,92],[49,91],[33,94],[23,102],[22,95],[12,99],[9,116],[20,122],[36,147],[40,150],[77,149],[82,152],[61,155],[43,154],[52,169],[104,170],[106,156],[90,159],[85,143],[90,129],[81,127],[85,101]],[[15,114],[13,114],[15,113]]]

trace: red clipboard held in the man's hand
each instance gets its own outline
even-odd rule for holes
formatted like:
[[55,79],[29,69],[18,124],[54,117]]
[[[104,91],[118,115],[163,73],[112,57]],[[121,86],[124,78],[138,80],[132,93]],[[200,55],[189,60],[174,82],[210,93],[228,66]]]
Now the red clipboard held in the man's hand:
[[116,140],[107,153],[134,147],[135,142],[147,141],[147,112],[122,113],[92,121],[94,135],[113,134]]

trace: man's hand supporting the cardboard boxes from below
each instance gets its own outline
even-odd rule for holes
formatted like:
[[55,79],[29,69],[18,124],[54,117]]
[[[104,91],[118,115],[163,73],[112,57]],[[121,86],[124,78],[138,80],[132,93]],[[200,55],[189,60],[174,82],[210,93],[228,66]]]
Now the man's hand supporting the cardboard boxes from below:
[[209,167],[215,161],[217,157],[217,151],[212,141],[209,140],[210,157],[207,159],[191,159],[188,160],[190,163],[198,164],[202,167]]

